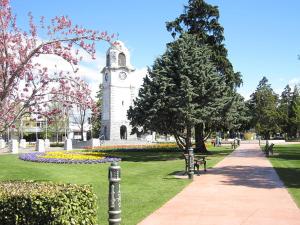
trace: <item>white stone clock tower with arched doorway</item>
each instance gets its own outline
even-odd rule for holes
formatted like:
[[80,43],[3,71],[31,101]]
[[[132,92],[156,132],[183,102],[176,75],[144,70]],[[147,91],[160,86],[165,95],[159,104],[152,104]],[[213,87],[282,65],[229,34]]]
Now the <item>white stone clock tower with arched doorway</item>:
[[103,74],[103,105],[101,133],[106,140],[136,139],[130,135],[131,126],[127,110],[135,97],[134,68],[130,54],[121,41],[111,46],[106,53]]

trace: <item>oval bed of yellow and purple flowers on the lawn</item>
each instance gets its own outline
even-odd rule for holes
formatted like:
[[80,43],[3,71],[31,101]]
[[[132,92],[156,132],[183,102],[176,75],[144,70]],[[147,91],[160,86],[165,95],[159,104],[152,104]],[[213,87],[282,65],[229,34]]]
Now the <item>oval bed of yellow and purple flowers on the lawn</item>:
[[20,154],[19,158],[25,161],[41,163],[106,163],[120,161],[120,158],[107,156],[101,152],[33,152]]

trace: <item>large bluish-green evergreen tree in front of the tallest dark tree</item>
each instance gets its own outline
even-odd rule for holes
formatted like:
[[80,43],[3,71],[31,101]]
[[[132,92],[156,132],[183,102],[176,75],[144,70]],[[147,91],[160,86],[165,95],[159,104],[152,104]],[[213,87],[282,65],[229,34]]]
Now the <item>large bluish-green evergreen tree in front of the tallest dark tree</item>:
[[[134,128],[174,135],[180,148],[191,147],[196,124],[215,124],[230,104],[228,87],[211,61],[211,50],[191,34],[167,45],[144,79],[128,118]],[[204,136],[201,136],[204,146]]]

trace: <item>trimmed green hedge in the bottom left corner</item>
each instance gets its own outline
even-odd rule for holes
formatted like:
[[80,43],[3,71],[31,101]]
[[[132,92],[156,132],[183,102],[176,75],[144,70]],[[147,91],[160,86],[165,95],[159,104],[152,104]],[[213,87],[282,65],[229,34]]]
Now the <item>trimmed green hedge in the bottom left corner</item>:
[[87,185],[0,182],[0,224],[93,225],[96,210],[96,195]]

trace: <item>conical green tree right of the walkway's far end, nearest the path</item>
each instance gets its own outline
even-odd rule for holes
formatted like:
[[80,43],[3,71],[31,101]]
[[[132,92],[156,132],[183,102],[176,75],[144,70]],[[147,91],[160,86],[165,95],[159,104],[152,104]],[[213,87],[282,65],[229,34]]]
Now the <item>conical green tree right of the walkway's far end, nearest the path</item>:
[[268,79],[263,77],[250,97],[249,106],[253,115],[252,126],[266,139],[269,139],[272,133],[280,131],[277,104],[277,94],[271,88]]

